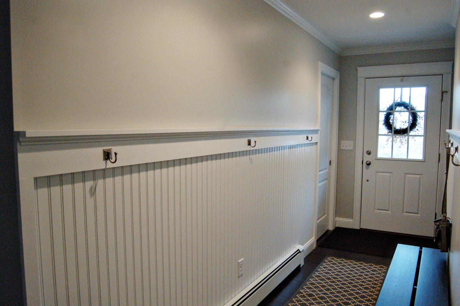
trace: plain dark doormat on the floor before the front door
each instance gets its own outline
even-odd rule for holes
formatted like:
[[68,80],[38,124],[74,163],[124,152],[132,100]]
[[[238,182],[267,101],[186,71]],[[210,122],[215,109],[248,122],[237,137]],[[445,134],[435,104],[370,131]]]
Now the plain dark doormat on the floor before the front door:
[[393,258],[398,243],[435,248],[432,238],[336,227],[318,247]]

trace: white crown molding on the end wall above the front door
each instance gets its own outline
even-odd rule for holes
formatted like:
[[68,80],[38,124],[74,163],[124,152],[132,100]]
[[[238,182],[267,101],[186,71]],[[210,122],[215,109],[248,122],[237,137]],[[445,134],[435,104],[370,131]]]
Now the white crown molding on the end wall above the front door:
[[345,56],[345,55],[361,55],[361,54],[374,54],[374,53],[386,53],[386,52],[427,50],[427,49],[443,49],[443,48],[453,48],[454,46],[455,46],[455,42],[453,40],[452,41],[450,40],[449,41],[435,41],[435,42],[417,43],[417,44],[346,49],[342,52],[341,55]]

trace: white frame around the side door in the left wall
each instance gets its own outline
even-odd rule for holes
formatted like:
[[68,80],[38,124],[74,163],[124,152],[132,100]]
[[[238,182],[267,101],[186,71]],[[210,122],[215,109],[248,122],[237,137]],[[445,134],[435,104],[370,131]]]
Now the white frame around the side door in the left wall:
[[[328,228],[333,230],[335,227],[335,193],[337,181],[337,143],[339,133],[339,72],[332,69],[326,64],[318,62],[318,89],[317,89],[317,102],[316,102],[316,127],[320,127],[320,114],[321,114],[321,75],[327,75],[332,78],[333,92],[332,92],[332,123],[331,123],[331,167],[329,168],[329,206],[328,206]],[[320,137],[321,137],[321,131]],[[316,170],[319,169],[319,154],[316,158]],[[316,171],[316,196],[315,196],[315,237],[316,237],[316,221],[318,220],[318,212],[316,211],[317,197],[318,197],[318,171]],[[318,239],[319,237],[316,237]]]

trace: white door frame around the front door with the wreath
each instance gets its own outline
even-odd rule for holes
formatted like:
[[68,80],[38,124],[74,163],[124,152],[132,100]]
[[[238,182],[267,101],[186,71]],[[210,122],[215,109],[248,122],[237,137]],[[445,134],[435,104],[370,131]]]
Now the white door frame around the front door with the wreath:
[[[362,154],[364,150],[364,94],[366,78],[415,75],[443,75],[443,101],[441,110],[441,137],[439,152],[444,151],[444,139],[449,139],[445,132],[450,125],[450,105],[452,92],[453,62],[401,64],[386,66],[357,67],[358,94],[356,112],[356,158],[355,158],[355,195],[353,205],[353,228],[359,229],[361,224],[361,188],[362,188]],[[438,166],[437,208],[440,212],[444,186],[445,158],[441,158]],[[434,217],[434,216],[433,216]]]

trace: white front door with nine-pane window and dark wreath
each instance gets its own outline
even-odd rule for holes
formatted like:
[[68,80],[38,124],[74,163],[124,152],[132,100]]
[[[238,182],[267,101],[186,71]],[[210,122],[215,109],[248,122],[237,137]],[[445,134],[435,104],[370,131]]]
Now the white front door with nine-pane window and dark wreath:
[[361,228],[432,236],[442,81],[366,79]]

